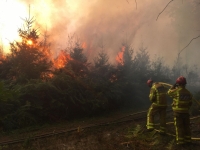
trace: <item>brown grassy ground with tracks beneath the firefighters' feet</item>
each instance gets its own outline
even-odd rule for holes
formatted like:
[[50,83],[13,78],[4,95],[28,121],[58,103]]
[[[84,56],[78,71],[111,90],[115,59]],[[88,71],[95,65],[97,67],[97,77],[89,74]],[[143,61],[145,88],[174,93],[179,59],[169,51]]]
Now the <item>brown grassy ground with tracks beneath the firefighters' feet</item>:
[[[0,150],[197,150],[200,148],[199,140],[193,140],[190,145],[175,144],[171,117],[168,117],[168,134],[160,135],[156,130],[146,132],[146,120],[133,120],[134,117],[128,115],[131,113],[118,112],[98,118],[62,122],[39,129],[29,128],[29,130],[1,133],[0,142],[24,137],[25,140],[2,145]],[[100,126],[97,126],[99,124]],[[200,138],[199,125],[199,118],[191,120],[193,137]],[[60,134],[57,134],[59,132]],[[34,135],[45,133],[55,134],[32,139]]]

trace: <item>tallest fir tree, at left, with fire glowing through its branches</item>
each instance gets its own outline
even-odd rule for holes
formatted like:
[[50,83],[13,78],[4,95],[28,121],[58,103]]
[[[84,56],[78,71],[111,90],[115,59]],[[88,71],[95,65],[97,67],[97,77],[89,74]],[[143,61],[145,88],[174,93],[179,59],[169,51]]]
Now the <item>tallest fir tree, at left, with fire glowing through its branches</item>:
[[10,43],[11,54],[0,64],[1,76],[16,83],[39,79],[51,67],[46,51],[37,43],[39,36],[37,31],[32,29],[33,20],[25,21],[27,28],[18,31],[22,41]]

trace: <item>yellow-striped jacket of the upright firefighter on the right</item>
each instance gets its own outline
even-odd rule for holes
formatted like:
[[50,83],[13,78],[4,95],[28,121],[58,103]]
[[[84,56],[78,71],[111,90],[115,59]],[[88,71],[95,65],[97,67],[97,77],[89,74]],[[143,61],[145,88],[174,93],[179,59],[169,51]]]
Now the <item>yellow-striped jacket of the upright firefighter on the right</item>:
[[192,105],[192,94],[184,87],[169,89],[168,95],[173,98],[172,109],[180,113],[188,113]]

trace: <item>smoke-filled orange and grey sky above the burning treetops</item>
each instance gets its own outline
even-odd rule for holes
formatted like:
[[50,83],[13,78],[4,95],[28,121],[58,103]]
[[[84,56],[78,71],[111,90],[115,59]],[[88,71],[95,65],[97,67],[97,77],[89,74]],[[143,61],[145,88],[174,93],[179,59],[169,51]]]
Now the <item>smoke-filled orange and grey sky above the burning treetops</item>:
[[44,32],[49,35],[55,55],[66,49],[73,37],[84,45],[89,60],[103,47],[112,62],[126,42],[134,49],[134,54],[146,47],[152,59],[163,57],[165,63],[171,65],[181,52],[184,63],[194,64],[200,57],[200,38],[192,40],[200,35],[200,1],[169,2],[1,0],[0,43],[4,51],[9,52],[9,42],[18,39],[17,30],[30,15],[41,37]]

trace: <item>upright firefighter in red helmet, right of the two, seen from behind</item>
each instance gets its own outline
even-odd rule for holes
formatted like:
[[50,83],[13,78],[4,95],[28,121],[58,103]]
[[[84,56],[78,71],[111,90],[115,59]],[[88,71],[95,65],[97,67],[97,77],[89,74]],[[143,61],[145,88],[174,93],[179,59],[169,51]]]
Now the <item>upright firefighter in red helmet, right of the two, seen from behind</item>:
[[172,110],[177,144],[191,142],[189,109],[192,105],[192,94],[185,88],[186,84],[186,78],[180,76],[167,92],[173,98]]

